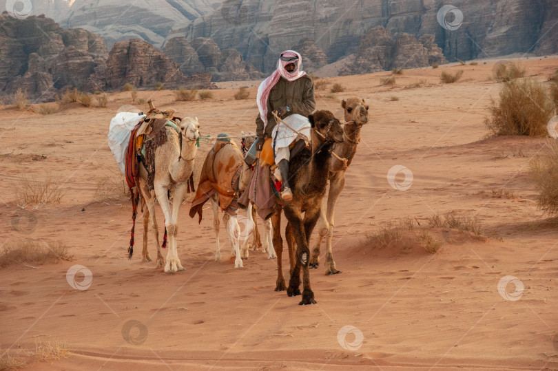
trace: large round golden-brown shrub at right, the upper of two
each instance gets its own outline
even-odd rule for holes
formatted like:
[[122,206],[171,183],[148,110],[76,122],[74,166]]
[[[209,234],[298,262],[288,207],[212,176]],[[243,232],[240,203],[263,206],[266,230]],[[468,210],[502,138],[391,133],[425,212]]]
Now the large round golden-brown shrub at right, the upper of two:
[[490,100],[484,121],[495,136],[543,136],[554,107],[543,84],[530,78],[504,83],[499,101]]

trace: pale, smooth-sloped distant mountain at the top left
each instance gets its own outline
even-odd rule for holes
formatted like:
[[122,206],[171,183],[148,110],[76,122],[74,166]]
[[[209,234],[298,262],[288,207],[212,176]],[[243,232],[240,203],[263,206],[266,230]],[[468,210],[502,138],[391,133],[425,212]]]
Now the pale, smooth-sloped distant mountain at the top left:
[[[31,2],[31,1],[30,1]],[[83,28],[105,39],[143,39],[158,48],[176,25],[214,12],[223,0],[32,0],[30,15],[45,14],[63,28]],[[1,9],[7,0],[0,0]],[[19,1],[21,3],[21,1]]]

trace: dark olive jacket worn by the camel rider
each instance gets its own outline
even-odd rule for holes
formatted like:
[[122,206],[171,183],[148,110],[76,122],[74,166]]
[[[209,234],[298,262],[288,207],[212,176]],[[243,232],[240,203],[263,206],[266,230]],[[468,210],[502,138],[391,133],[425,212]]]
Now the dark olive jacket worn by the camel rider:
[[271,137],[273,127],[277,125],[275,117],[271,112],[279,107],[289,106],[290,112],[285,114],[284,118],[291,114],[299,114],[308,116],[316,109],[316,98],[314,98],[314,83],[308,75],[297,78],[295,81],[287,81],[280,77],[279,81],[269,92],[267,98],[267,126],[260,118],[260,114],[256,118],[256,134],[258,136],[266,135]]

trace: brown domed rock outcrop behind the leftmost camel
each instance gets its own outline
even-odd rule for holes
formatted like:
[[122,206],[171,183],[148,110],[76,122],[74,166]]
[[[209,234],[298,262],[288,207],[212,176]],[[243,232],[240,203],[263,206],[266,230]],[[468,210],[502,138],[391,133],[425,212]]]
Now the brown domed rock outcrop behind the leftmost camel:
[[89,89],[121,89],[125,83],[137,88],[154,89],[161,82],[167,88],[211,87],[210,74],[185,76],[174,61],[170,60],[139,39],[120,41],[112,47],[106,66],[96,70],[88,81]]

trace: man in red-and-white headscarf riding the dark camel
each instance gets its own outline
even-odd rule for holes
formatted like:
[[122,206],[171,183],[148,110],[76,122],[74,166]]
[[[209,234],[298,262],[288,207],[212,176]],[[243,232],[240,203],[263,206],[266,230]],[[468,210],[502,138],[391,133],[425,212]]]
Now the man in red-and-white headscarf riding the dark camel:
[[[278,129],[273,131],[273,128],[278,123],[272,112],[276,112],[280,118],[287,118],[293,114],[307,117],[316,109],[314,83],[306,72],[302,71],[302,56],[298,52],[287,50],[281,53],[277,70],[260,84],[256,100],[260,111],[256,118],[257,149],[261,151],[265,139],[273,139],[275,136],[273,154],[282,178],[281,198],[286,201],[292,200],[293,193],[289,187],[289,160],[291,154],[295,155],[306,146],[306,142],[296,138],[294,140],[298,141],[289,150],[293,140],[290,140],[287,145],[281,144],[285,143],[285,140],[277,141]],[[299,128],[301,127],[294,127],[296,130]]]

